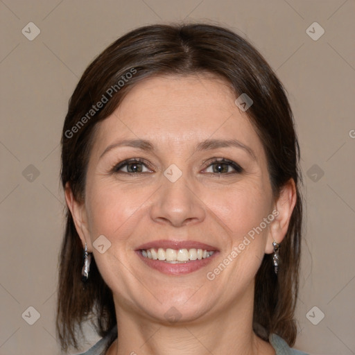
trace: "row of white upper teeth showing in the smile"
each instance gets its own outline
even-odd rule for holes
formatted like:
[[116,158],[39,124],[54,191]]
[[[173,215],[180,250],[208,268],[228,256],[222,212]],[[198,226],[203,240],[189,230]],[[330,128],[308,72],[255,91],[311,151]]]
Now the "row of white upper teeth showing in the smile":
[[166,250],[163,248],[158,248],[155,250],[154,248],[150,248],[147,250],[141,250],[141,254],[148,259],[166,261],[168,263],[187,263],[187,261],[191,260],[201,260],[211,257],[214,254],[214,251],[207,251],[203,249],[171,249],[167,248]]

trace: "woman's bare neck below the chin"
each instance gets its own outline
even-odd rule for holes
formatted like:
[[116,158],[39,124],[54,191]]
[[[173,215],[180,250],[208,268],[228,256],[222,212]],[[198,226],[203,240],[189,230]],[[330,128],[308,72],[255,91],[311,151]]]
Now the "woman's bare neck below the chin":
[[170,324],[126,311],[115,300],[119,336],[107,355],[274,355],[271,345],[252,331],[253,291],[227,309]]

